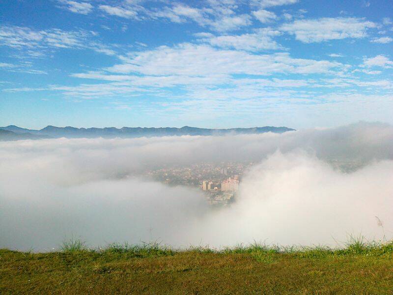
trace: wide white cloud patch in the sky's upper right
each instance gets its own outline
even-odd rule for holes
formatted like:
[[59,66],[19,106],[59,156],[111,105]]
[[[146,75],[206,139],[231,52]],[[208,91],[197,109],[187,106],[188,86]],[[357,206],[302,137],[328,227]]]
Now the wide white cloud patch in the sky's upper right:
[[282,31],[294,34],[304,43],[322,42],[344,38],[363,38],[367,29],[376,28],[376,24],[359,18],[320,18],[314,20],[296,20],[280,27]]

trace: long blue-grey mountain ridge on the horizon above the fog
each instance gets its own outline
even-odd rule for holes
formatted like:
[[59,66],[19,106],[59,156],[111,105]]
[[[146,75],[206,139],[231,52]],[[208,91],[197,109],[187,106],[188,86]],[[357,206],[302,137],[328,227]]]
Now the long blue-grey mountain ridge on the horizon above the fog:
[[75,128],[47,126],[40,130],[21,128],[15,125],[0,127],[0,140],[43,139],[43,138],[135,138],[154,136],[181,136],[181,135],[227,135],[227,134],[259,134],[265,132],[283,133],[294,131],[287,127],[253,127],[208,129],[184,126],[181,128],[160,127],[106,127],[106,128]]

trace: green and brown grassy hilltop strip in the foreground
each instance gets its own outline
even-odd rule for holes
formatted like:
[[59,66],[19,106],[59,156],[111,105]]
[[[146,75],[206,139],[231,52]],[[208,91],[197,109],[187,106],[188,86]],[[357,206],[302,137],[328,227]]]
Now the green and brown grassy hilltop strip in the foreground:
[[393,242],[91,249],[72,238],[56,252],[0,250],[0,294],[393,294]]

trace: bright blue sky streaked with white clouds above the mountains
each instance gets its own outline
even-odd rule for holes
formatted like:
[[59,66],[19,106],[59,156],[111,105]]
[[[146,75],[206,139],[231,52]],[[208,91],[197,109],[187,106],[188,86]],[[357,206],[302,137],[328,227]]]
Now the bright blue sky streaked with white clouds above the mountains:
[[0,125],[393,123],[392,0],[2,0]]

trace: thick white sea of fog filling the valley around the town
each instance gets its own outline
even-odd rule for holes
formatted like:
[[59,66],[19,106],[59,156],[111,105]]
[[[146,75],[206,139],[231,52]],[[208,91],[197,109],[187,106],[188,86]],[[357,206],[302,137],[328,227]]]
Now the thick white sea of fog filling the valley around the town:
[[[171,165],[253,161],[236,202],[141,177]],[[336,163],[358,163],[339,169]],[[332,164],[333,163],[333,164]],[[341,167],[342,168],[342,167]],[[0,247],[159,241],[331,245],[393,237],[393,126],[356,123],[283,134],[0,143]],[[378,219],[382,221],[382,226]]]

